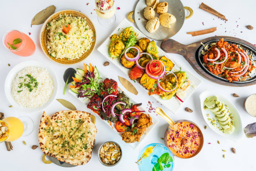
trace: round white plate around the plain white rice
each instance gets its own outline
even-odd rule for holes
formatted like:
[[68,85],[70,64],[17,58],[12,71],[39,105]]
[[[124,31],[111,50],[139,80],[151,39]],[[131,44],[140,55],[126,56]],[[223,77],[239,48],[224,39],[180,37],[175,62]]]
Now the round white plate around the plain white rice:
[[[37,108],[33,108],[33,109],[28,109],[28,108],[24,108],[21,107],[20,105],[18,105],[15,100],[13,99],[13,97],[11,96],[11,85],[13,82],[14,77],[16,76],[16,74],[23,68],[25,67],[43,67],[46,68],[47,71],[50,73],[53,82],[54,82],[54,92],[51,95],[51,98],[49,99],[49,101],[42,105],[41,107],[37,107]],[[46,108],[47,106],[49,106],[49,104],[51,104],[51,102],[54,100],[56,93],[57,93],[57,87],[58,87],[58,82],[57,82],[57,78],[54,74],[54,72],[47,67],[46,64],[42,63],[42,62],[38,62],[38,61],[26,61],[26,62],[21,62],[17,65],[15,65],[15,67],[13,67],[10,72],[8,73],[6,79],[5,79],[5,96],[7,97],[8,101],[10,102],[10,104],[15,107],[16,109],[18,109],[21,112],[38,112],[43,110],[44,108]]]

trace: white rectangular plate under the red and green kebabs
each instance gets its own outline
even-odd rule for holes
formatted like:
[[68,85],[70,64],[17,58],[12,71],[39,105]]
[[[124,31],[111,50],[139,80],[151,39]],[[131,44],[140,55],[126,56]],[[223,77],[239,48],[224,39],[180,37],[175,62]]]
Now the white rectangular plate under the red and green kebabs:
[[[103,81],[105,78],[107,78],[107,76],[104,75],[104,74],[102,74],[99,70],[98,70],[98,72],[99,72],[99,74],[100,74],[100,78],[102,78],[102,79],[101,79],[102,81]],[[120,90],[120,89],[118,89],[118,90],[122,92],[122,90]],[[72,94],[72,95],[73,95],[74,97],[76,97],[77,99],[79,99],[82,103],[84,103],[85,106],[87,106],[87,104],[90,102],[90,99],[88,99],[88,98],[86,98],[86,97],[84,97],[84,98],[78,98],[78,97],[77,97],[77,94],[75,94],[74,92],[72,92],[70,89],[69,89],[69,93]],[[123,92],[123,93],[125,94],[125,92]],[[129,97],[127,94],[125,94],[125,96]],[[133,99],[131,99],[131,97],[129,97],[129,99],[130,99],[130,103],[133,103],[133,104],[141,103],[141,102],[136,102],[136,101],[134,101]],[[146,111],[146,110],[143,109],[142,107],[139,107],[139,109]],[[88,109],[88,110],[90,110],[91,113],[94,113],[91,109]],[[146,113],[146,114],[147,114],[147,113]],[[141,140],[140,140],[139,142],[129,143],[129,145],[130,145],[131,147],[133,147],[133,149],[136,149],[136,147],[137,147],[139,144],[141,144],[141,142],[143,141],[143,139],[148,135],[148,133],[149,133],[152,129],[154,129],[154,127],[156,126],[156,124],[159,122],[159,120],[156,119],[156,116],[155,116],[154,114],[150,114],[150,116],[151,116],[151,118],[152,118],[153,124],[148,127],[148,130],[145,132],[145,134],[143,134],[143,135],[141,136]],[[99,117],[99,118],[100,118],[100,117]],[[101,119],[101,118],[100,118],[100,119]],[[104,120],[104,122],[105,122],[108,126],[110,126],[110,124],[108,123],[108,121],[105,121],[105,120]],[[114,123],[112,123],[112,126],[113,126],[113,128],[114,128],[113,130],[114,130],[117,134],[120,135],[120,139],[121,139],[121,134],[115,129],[115,124],[114,124]],[[110,126],[110,127],[111,127],[111,126]],[[111,127],[111,128],[112,128],[112,127]],[[124,143],[125,143],[125,142],[124,142]]]

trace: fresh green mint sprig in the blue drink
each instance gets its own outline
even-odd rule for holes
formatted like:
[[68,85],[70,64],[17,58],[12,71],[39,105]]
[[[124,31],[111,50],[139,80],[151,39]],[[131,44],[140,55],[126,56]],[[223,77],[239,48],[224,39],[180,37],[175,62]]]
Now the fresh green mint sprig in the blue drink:
[[164,153],[157,159],[157,163],[154,165],[152,171],[162,171],[164,168],[169,168],[171,166],[170,162],[172,161],[172,156],[169,156],[169,153]]

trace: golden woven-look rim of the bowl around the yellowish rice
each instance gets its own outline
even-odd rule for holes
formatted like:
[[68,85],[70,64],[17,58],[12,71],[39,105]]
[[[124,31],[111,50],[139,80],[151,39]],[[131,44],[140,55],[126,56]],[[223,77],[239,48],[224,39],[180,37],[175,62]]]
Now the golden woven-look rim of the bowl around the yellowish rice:
[[[56,19],[59,17],[59,15],[64,15],[64,14],[71,14],[72,16],[75,16],[75,17],[82,17],[82,18],[85,18],[85,21],[87,22],[87,24],[89,25],[89,27],[92,29],[92,31],[94,32],[94,35],[93,35],[93,38],[94,38],[94,42],[92,42],[92,45],[91,45],[91,48],[90,50],[88,50],[87,52],[85,52],[82,57],[80,57],[79,59],[73,59],[73,60],[67,60],[67,59],[56,59],[56,58],[53,58],[49,55],[48,53],[48,49],[46,47],[46,41],[47,41],[47,31],[46,31],[46,25],[48,22],[50,22],[51,20],[53,19]],[[59,64],[64,64],[64,65],[71,65],[71,64],[77,64],[79,62],[82,62],[85,58],[87,58],[91,53],[92,51],[94,50],[95,48],[95,45],[96,45],[96,31],[95,31],[95,27],[93,25],[93,23],[91,22],[91,20],[87,17],[87,15],[85,15],[84,13],[82,12],[79,12],[77,10],[62,10],[62,11],[59,11],[59,12],[56,12],[54,13],[53,15],[51,15],[45,22],[44,22],[44,25],[41,29],[41,32],[40,32],[40,44],[41,44],[41,48],[44,52],[44,54],[51,60],[53,60],[54,62],[57,62]]]

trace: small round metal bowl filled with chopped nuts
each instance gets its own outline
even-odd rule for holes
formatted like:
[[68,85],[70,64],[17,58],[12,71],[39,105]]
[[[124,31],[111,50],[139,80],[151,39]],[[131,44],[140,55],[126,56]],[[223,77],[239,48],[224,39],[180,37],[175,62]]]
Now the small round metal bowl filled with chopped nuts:
[[121,149],[117,144],[108,142],[100,148],[100,158],[105,164],[115,164],[121,158]]

